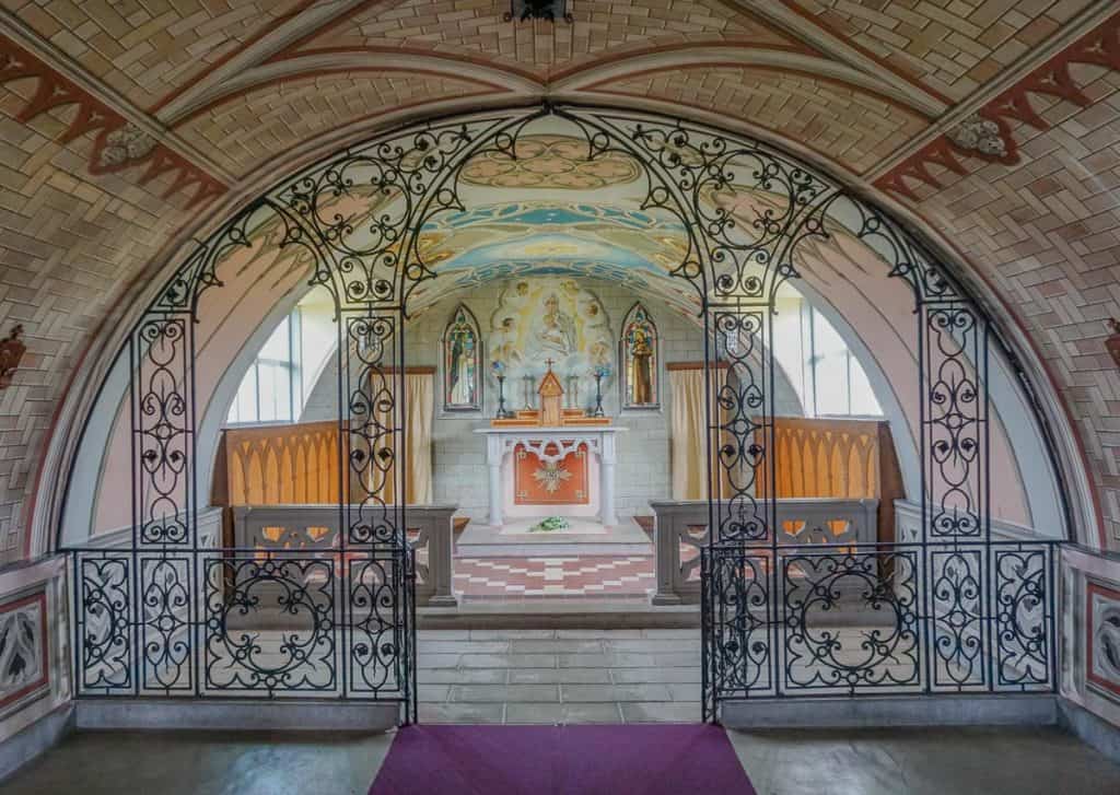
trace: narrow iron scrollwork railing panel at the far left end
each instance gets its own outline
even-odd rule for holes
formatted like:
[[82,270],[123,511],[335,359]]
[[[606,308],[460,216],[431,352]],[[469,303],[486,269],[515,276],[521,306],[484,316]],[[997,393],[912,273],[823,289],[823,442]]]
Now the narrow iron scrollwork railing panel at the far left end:
[[74,553],[74,657],[83,694],[136,692],[133,555]]

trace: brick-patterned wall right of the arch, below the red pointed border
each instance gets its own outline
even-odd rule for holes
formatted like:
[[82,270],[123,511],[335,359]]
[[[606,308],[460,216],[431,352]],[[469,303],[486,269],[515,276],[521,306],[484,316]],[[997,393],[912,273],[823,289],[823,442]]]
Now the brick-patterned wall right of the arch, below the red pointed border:
[[916,187],[917,212],[1011,307],[1065,399],[1120,545],[1120,372],[1104,320],[1120,317],[1120,74],[1081,66],[1089,107],[1039,100],[1052,127],[1012,125],[1015,166],[969,159]]

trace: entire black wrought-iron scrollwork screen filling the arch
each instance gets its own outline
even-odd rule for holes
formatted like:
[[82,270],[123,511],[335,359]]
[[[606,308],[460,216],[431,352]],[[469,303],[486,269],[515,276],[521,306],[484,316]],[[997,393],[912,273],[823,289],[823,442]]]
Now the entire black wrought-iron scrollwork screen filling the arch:
[[[983,311],[888,216],[758,141],[545,105],[413,125],[337,152],[248,204],[156,292],[127,345],[132,539],[72,552],[80,694],[314,693],[396,702],[414,719],[417,568],[399,396],[409,300],[436,278],[421,230],[465,209],[472,159],[516,159],[522,133],[547,116],[578,131],[589,160],[640,163],[643,212],[684,230],[669,271],[696,292],[709,365],[706,718],[759,695],[1052,689],[1053,550],[1000,548],[989,526]],[[737,209],[745,197],[754,204]],[[799,277],[806,247],[838,234],[871,249],[914,298],[924,520],[906,544],[810,554],[775,532],[769,343],[776,291]],[[231,254],[264,251],[272,270],[327,290],[338,319],[340,530],[298,556],[214,548],[198,533],[195,327]],[[881,626],[823,628],[822,616],[846,605]]]

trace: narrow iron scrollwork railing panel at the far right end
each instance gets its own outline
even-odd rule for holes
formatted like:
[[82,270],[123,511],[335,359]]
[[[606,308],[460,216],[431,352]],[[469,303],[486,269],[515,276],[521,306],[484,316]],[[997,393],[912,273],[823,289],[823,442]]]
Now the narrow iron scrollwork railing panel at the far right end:
[[992,546],[996,686],[1048,690],[1054,680],[1054,548]]

